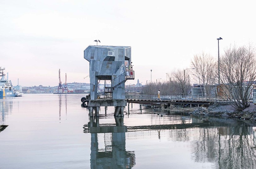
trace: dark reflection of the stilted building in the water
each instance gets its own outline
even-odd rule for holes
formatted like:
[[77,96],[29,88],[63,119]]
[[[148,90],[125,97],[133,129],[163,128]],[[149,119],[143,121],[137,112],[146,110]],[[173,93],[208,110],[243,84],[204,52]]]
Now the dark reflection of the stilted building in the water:
[[[132,168],[135,165],[134,151],[125,150],[123,117],[115,117],[115,124],[99,125],[99,118],[90,118],[84,132],[91,133],[91,168]],[[98,134],[104,134],[105,148],[99,148]]]

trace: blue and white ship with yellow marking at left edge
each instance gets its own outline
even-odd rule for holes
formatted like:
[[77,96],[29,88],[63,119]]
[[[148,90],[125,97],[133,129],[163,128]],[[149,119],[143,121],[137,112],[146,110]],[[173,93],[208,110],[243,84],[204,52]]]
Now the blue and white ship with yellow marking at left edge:
[[5,97],[15,97],[16,94],[13,90],[13,85],[11,80],[8,80],[8,73],[7,73],[7,79],[5,79],[4,71],[5,68],[0,67],[0,98]]

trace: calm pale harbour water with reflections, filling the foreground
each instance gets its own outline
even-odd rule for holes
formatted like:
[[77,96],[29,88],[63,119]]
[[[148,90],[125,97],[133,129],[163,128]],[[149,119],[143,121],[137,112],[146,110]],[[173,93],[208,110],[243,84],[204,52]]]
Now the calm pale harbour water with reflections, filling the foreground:
[[0,168],[256,168],[256,128],[246,120],[133,104],[123,119],[101,107],[90,121],[82,96],[0,99],[0,124],[9,125],[0,132]]

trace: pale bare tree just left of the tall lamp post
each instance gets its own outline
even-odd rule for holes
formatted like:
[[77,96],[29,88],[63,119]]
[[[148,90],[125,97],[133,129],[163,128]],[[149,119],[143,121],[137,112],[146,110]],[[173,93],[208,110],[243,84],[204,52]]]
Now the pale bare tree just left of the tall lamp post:
[[210,95],[210,85],[214,85],[217,78],[217,63],[215,59],[210,54],[202,52],[194,55],[191,64],[195,68],[194,74],[197,77],[198,84],[204,86],[204,95]]

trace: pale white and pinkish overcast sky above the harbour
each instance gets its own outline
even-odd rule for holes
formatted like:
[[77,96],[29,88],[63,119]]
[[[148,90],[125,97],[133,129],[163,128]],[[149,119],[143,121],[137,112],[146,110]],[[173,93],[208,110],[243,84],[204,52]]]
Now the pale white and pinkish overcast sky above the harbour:
[[[13,85],[90,83],[89,45],[131,46],[135,80],[164,82],[202,52],[256,43],[255,1],[1,0],[0,66]],[[152,69],[152,72],[150,71]],[[86,77],[86,78],[84,78]],[[148,82],[149,83],[149,82]]]

